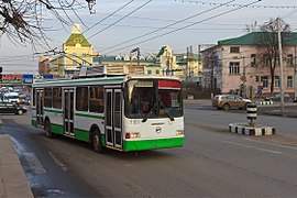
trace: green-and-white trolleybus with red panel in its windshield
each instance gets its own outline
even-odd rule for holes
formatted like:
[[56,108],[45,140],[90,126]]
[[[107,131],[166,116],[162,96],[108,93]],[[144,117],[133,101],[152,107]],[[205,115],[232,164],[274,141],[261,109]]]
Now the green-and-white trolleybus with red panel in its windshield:
[[57,134],[130,152],[184,145],[182,84],[176,77],[101,76],[36,81],[32,124]]

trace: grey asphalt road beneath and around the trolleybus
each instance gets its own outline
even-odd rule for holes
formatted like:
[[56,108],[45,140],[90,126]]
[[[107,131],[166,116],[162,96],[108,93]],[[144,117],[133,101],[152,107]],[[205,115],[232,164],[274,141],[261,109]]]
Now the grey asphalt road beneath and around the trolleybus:
[[30,114],[0,116],[36,197],[294,197],[296,119],[260,117],[276,135],[228,132],[237,111],[185,109],[186,144],[138,153],[92,152],[65,138],[46,139]]

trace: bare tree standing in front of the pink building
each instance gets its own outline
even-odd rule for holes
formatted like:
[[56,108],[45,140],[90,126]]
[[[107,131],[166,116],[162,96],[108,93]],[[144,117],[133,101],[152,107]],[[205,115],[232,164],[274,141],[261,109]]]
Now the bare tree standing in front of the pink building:
[[[280,32],[283,45],[288,44],[289,25],[280,20]],[[278,40],[277,40],[278,24],[277,19],[271,19],[267,23],[260,26],[260,33],[257,37],[257,48],[261,52],[263,58],[267,59],[271,72],[271,94],[274,92],[274,79],[275,68],[279,65],[278,54]]]

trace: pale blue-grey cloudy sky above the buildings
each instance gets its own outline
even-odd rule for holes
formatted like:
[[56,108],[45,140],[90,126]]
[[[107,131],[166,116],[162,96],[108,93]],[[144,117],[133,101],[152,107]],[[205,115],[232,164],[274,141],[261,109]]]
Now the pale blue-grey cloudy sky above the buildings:
[[[18,1],[18,0],[16,0]],[[70,2],[70,0],[68,0]],[[65,1],[64,1],[65,2]],[[85,0],[77,0],[87,7]],[[246,7],[244,7],[246,6]],[[270,19],[283,18],[297,31],[297,2],[294,0],[97,0],[90,14],[87,8],[57,10],[67,24],[44,12],[48,46],[0,38],[0,66],[3,74],[36,74],[38,55],[62,50],[70,25],[79,23],[82,34],[100,55],[128,55],[140,47],[141,55],[157,54],[168,45],[174,53],[193,46],[207,47],[220,40],[246,34],[246,25],[258,28]]]

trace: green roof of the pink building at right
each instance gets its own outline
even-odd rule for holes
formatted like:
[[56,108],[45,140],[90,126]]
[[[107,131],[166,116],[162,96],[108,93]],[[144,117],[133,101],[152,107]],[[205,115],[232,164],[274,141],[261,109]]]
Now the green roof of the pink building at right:
[[[252,32],[240,37],[218,41],[218,45],[260,45],[260,40],[265,36],[264,34],[265,32]],[[297,32],[288,32],[286,34],[283,38],[283,44],[297,46]],[[275,38],[277,40],[277,34]]]

